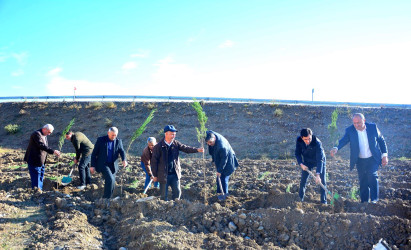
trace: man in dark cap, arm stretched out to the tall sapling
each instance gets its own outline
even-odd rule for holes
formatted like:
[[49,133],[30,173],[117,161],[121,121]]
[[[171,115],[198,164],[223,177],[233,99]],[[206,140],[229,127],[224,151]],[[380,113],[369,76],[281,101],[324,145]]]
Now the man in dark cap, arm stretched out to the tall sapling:
[[179,152],[204,152],[204,148],[194,148],[175,140],[177,129],[173,125],[164,127],[164,138],[153,148],[151,157],[151,171],[153,181],[160,182],[161,199],[167,200],[168,186],[173,192],[172,199],[180,199],[181,167],[178,158]]

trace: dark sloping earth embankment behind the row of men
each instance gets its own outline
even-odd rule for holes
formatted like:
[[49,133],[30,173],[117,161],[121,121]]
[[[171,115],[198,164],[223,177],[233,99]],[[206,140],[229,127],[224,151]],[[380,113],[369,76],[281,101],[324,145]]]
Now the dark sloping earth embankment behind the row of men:
[[[97,105],[99,104],[99,105]],[[158,140],[164,136],[163,128],[174,124],[179,130],[177,140],[197,146],[197,113],[187,102],[20,102],[0,104],[0,147],[25,149],[30,134],[51,123],[55,132],[48,136],[49,145],[57,147],[61,132],[71,119],[75,118],[75,131],[81,131],[95,142],[98,136],[105,135],[110,126],[119,129],[119,138],[128,145],[136,129],[144,122],[152,109],[157,112],[141,138],[154,136]],[[280,104],[250,103],[209,103],[202,102],[208,116],[207,128],[224,135],[240,159],[289,159],[293,158],[295,140],[302,128],[313,129],[328,151],[334,146],[331,142],[328,124],[331,114],[338,108],[337,120],[340,136],[352,124],[353,113],[364,113],[367,122],[378,125],[384,135],[390,157],[411,158],[411,140],[407,136],[410,109],[300,106]],[[9,134],[3,129],[8,124],[19,126],[19,132]],[[409,134],[409,133],[408,133]],[[244,146],[249,143],[252,146]],[[140,156],[146,146],[145,139],[132,144],[129,153]],[[63,145],[63,152],[74,153],[70,143]],[[348,147],[339,154],[348,157]],[[198,157],[196,154],[187,157]]]

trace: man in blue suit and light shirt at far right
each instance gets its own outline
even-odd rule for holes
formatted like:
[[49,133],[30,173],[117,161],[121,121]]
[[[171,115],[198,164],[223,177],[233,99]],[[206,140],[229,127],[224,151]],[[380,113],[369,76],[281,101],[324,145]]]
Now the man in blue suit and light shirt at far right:
[[338,146],[331,150],[334,156],[338,150],[350,143],[350,170],[357,166],[360,181],[361,202],[376,203],[378,194],[378,167],[387,165],[388,150],[385,139],[373,123],[366,123],[361,113],[352,117],[353,125],[345,130]]

